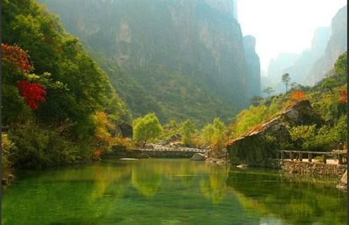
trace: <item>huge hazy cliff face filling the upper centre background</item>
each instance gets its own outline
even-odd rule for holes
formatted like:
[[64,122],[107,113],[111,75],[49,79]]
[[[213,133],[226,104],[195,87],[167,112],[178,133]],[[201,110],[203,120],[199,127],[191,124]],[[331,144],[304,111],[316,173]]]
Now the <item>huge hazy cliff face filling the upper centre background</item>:
[[135,116],[227,120],[249,102],[248,74],[259,85],[257,63],[247,62],[248,72],[235,1],[41,2],[103,63]]

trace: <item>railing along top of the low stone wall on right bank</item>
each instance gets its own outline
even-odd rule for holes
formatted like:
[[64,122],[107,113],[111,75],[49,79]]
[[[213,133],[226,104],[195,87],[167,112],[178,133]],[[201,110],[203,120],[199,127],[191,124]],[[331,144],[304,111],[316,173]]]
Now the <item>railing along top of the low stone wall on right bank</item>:
[[277,154],[277,158],[281,160],[285,160],[286,155],[290,156],[290,160],[297,160],[299,162],[303,162],[303,155],[308,155],[308,162],[313,162],[313,155],[322,155],[322,162],[327,163],[327,158],[329,156],[336,156],[338,159],[338,164],[345,164],[343,159],[346,158],[347,150],[332,150],[332,152],[311,152],[311,151],[300,151],[300,150],[279,150],[279,154]]

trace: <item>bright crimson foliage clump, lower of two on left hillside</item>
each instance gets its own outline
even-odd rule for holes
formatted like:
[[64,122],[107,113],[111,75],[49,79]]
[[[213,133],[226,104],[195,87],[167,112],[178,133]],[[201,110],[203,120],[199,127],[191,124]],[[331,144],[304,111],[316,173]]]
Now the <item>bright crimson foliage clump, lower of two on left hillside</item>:
[[18,82],[20,95],[24,97],[31,109],[38,109],[38,102],[45,102],[45,89],[38,83],[30,84],[27,81]]

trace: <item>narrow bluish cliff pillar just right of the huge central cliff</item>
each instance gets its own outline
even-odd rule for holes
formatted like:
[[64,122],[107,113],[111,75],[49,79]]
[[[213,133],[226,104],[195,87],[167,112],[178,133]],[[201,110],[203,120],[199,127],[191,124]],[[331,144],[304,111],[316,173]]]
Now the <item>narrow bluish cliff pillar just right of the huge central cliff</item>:
[[248,98],[255,95],[260,96],[260,58],[255,53],[255,38],[253,36],[244,36],[244,50],[246,56]]

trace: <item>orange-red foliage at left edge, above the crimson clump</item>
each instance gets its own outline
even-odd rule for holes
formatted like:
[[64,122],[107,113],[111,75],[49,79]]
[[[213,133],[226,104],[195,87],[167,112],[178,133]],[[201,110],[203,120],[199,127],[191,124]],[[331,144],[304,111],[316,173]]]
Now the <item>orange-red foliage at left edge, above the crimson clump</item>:
[[17,66],[22,72],[34,69],[29,61],[28,52],[17,45],[1,44],[1,60]]

